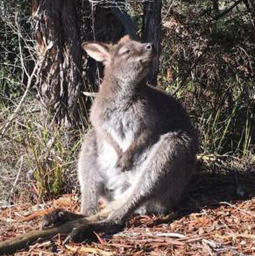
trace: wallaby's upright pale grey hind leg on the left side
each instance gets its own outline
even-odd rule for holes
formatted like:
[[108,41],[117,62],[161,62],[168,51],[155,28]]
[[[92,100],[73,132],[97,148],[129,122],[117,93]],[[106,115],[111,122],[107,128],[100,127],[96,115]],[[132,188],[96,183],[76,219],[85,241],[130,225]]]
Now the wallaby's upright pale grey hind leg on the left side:
[[100,190],[97,167],[96,133],[91,129],[84,138],[78,159],[78,180],[81,188],[81,214],[96,214]]

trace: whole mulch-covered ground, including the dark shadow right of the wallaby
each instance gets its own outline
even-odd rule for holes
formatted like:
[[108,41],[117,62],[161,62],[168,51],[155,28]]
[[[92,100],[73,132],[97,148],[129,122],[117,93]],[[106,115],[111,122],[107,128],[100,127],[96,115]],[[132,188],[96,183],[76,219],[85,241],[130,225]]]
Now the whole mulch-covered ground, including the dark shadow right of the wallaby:
[[[167,216],[132,217],[124,231],[95,234],[94,241],[81,244],[65,245],[58,235],[15,255],[255,255],[255,166],[227,170],[230,165],[219,158],[213,166],[224,172],[212,165],[207,172],[205,166],[195,174],[186,199]],[[1,209],[0,241],[40,228],[40,216],[55,208],[78,212],[79,196]]]

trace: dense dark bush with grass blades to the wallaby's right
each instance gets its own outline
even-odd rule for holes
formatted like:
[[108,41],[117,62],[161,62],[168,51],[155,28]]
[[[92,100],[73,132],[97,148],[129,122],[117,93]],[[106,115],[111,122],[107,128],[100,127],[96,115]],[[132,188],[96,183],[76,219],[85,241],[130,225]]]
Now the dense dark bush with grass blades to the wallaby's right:
[[247,156],[255,148],[254,25],[242,2],[219,16],[232,4],[219,1],[215,13],[212,1],[175,3],[163,21],[159,84],[184,102],[201,153]]

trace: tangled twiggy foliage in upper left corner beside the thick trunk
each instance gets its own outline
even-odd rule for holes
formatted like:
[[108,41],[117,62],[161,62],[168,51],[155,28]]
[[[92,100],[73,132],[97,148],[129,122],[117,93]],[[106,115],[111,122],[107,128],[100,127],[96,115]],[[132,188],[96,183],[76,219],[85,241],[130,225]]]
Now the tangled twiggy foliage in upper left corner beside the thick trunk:
[[30,12],[28,0],[2,1],[0,2],[0,105],[12,104],[24,92],[24,70],[21,67],[21,53],[25,65],[29,55],[25,45],[19,40],[17,23],[21,29],[21,36],[27,37],[30,33],[28,17]]

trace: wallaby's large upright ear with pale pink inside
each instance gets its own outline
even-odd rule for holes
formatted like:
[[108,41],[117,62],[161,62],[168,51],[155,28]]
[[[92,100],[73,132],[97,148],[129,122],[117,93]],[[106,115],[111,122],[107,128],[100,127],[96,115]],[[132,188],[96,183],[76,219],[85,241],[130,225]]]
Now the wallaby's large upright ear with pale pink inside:
[[110,61],[110,48],[104,43],[85,42],[81,44],[82,48],[96,61]]

